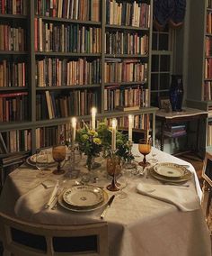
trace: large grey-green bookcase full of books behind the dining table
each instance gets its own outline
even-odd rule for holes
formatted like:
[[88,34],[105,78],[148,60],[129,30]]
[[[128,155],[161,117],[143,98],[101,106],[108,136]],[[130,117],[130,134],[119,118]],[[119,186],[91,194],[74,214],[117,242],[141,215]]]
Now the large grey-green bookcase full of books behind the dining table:
[[92,106],[122,128],[134,114],[135,129],[155,138],[152,6],[0,0],[0,156],[52,145],[72,116],[90,120]]

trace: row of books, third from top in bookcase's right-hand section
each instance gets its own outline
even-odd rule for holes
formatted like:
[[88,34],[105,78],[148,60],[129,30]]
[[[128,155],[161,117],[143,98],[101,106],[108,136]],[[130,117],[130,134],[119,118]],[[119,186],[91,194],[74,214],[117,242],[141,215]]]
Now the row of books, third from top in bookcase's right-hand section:
[[105,83],[141,82],[147,80],[147,63],[141,63],[139,59],[123,59],[121,62],[105,61]]

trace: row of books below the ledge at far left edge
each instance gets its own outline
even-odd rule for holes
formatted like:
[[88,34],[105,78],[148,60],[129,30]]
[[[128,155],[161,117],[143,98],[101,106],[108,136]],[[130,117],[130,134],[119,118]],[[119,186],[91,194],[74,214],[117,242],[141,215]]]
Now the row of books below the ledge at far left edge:
[[0,133],[0,153],[31,151],[31,130]]

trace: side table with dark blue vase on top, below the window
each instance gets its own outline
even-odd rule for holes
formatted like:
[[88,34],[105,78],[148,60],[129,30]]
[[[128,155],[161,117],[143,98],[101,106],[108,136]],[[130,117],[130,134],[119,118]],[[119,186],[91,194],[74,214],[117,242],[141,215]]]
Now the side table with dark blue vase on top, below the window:
[[197,131],[196,131],[196,151],[199,151],[199,126],[201,122],[206,122],[208,117],[208,112],[201,111],[199,109],[184,108],[181,112],[170,112],[166,113],[163,109],[156,112],[156,121],[161,123],[161,135],[160,135],[160,145],[161,151],[163,151],[164,146],[164,127],[167,124],[173,123],[190,123],[192,120],[198,121]]

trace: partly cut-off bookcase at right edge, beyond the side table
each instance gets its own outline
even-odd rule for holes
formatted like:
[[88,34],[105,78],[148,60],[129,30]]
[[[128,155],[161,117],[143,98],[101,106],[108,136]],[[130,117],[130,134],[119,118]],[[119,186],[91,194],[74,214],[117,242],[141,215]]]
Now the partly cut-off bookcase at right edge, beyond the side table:
[[[199,17],[197,19],[197,16]],[[205,149],[212,146],[212,3],[190,1],[187,105],[208,111],[201,141]]]

